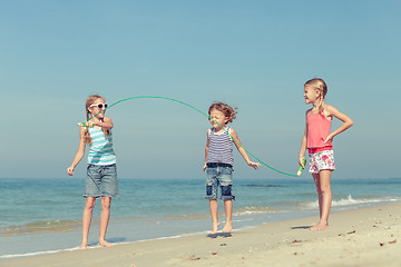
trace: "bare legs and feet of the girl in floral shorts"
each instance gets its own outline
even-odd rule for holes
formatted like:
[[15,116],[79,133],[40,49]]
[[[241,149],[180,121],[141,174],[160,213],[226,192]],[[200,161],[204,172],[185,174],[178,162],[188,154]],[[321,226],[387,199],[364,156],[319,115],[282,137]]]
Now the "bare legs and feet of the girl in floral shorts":
[[330,179],[331,179],[331,170],[321,170],[317,176],[313,178],[319,179],[319,187],[316,184],[316,189],[319,194],[319,208],[320,208],[320,221],[317,225],[311,227],[311,230],[324,230],[329,227],[329,215],[332,204],[332,192],[330,187]]

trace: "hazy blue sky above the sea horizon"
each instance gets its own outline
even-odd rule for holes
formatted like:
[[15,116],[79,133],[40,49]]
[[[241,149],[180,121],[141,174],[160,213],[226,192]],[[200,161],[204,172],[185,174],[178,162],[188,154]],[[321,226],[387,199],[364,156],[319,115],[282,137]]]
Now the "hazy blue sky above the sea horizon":
[[[0,0],[0,178],[67,178],[92,93],[226,102],[245,148],[295,174],[315,77],[354,121],[334,138],[333,179],[399,178],[400,13],[397,0]],[[119,178],[205,178],[205,116],[160,99],[107,116]],[[234,156],[234,179],[290,178]]]

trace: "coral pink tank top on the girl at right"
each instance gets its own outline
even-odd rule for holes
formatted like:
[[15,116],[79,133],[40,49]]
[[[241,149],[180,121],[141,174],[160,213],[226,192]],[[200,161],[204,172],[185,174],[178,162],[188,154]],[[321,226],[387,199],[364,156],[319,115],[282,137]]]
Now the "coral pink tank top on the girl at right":
[[322,113],[309,112],[306,115],[306,123],[307,123],[306,142],[310,152],[317,152],[322,150],[333,149],[333,145],[331,142],[324,144],[324,140],[330,135],[331,120],[329,120],[323,115],[323,111]]

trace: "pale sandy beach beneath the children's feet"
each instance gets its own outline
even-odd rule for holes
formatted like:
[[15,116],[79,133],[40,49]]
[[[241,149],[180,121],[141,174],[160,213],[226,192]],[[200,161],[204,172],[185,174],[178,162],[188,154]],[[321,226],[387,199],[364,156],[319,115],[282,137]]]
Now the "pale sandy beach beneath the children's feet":
[[268,222],[208,236],[117,245],[1,260],[0,266],[401,266],[401,204],[334,212],[330,228],[310,231],[316,217]]

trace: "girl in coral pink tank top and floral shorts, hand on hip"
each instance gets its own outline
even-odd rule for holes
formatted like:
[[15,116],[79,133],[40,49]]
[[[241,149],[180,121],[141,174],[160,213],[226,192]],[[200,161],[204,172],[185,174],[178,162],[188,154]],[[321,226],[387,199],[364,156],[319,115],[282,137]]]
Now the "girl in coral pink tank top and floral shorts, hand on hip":
[[[329,215],[332,204],[330,180],[334,167],[333,138],[343,132],[353,121],[336,108],[324,103],[327,86],[322,79],[312,79],[304,85],[305,103],[313,105],[306,111],[306,127],[302,138],[300,165],[304,166],[304,155],[309,151],[310,172],[316,185],[319,196],[320,220],[311,230],[324,230],[329,227]],[[343,123],[331,132],[333,117]]]

